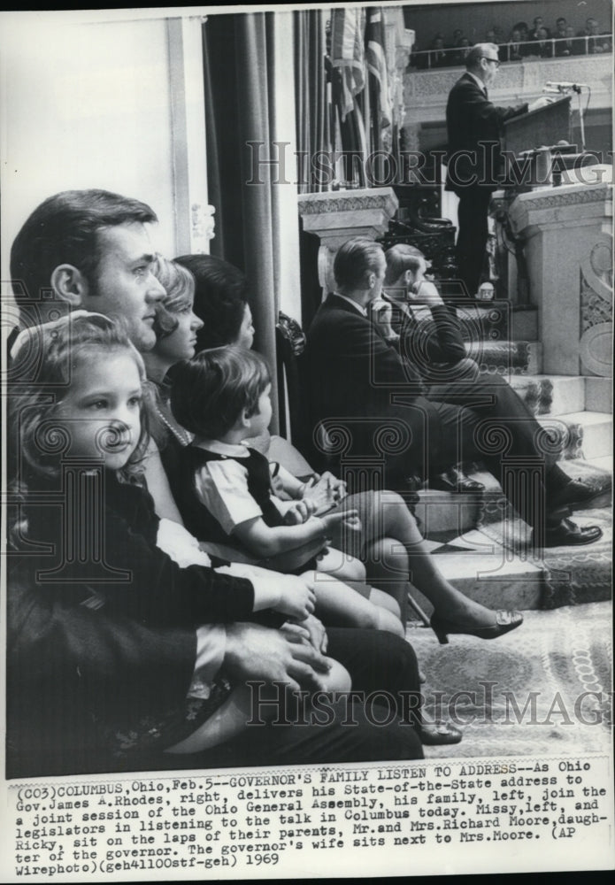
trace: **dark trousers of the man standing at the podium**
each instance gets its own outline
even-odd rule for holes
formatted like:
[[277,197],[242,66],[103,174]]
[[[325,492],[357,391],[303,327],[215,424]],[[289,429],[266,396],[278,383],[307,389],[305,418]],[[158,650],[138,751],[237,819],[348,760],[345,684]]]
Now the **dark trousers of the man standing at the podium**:
[[457,191],[457,245],[455,255],[461,280],[465,283],[467,296],[476,296],[480,275],[485,261],[488,239],[488,208],[491,190],[480,186]]

